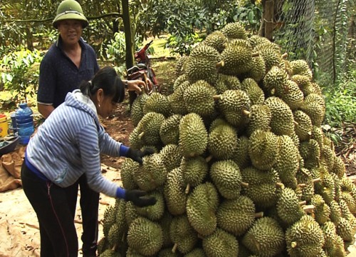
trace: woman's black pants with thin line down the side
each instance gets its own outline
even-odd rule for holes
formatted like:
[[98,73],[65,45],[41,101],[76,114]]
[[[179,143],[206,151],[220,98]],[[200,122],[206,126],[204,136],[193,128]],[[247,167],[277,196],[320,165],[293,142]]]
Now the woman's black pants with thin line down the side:
[[23,191],[37,214],[41,257],[78,256],[73,211],[64,188],[38,178],[24,161],[21,180]]

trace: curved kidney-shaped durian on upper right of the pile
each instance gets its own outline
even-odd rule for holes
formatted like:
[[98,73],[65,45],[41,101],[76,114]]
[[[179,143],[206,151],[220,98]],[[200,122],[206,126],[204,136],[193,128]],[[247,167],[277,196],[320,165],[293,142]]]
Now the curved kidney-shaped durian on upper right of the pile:
[[272,114],[271,131],[278,136],[291,136],[294,133],[294,119],[290,107],[276,96],[268,97],[265,104]]

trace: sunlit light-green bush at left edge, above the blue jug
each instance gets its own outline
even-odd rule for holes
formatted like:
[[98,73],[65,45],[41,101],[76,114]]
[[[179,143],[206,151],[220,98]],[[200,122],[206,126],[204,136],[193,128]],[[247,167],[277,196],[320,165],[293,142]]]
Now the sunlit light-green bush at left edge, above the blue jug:
[[14,96],[14,101],[27,100],[27,96],[36,94],[38,69],[34,64],[41,62],[40,51],[21,50],[5,55],[0,61],[1,84]]

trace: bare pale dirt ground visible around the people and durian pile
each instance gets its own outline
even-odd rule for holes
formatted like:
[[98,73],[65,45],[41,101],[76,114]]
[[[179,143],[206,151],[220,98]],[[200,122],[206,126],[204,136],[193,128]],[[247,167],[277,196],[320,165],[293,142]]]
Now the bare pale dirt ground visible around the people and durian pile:
[[[106,130],[117,141],[121,141],[126,145],[129,144],[128,136],[130,135],[133,125],[127,113],[127,103],[117,106],[115,116],[111,119],[103,120]],[[346,136],[355,136],[355,126],[353,132]],[[356,156],[355,144],[347,146],[348,148],[335,148],[338,151],[338,156],[341,156],[347,166],[347,173],[350,175],[356,174]],[[102,156],[103,175],[120,184],[120,166],[123,158],[112,158]],[[79,196],[78,196],[79,199]],[[99,219],[103,221],[105,209],[110,204],[115,204],[114,198],[109,198],[103,194],[100,195]],[[75,226],[78,231],[78,238],[82,233],[81,213],[79,203],[77,204],[77,212],[75,216]],[[103,226],[99,226],[99,239],[103,237]],[[79,246],[82,243],[78,239]],[[0,193],[0,257],[26,257],[40,256],[40,235],[38,230],[38,221],[36,214],[28,202],[22,188],[17,188],[12,191]],[[348,257],[356,256],[355,245],[349,247],[350,254]],[[82,256],[79,250],[78,256]]]

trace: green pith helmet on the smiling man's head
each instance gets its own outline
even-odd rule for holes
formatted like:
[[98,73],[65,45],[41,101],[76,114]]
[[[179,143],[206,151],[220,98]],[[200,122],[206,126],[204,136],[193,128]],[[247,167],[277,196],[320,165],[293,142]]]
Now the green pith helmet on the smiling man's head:
[[88,20],[83,14],[82,7],[75,0],[64,0],[59,4],[57,9],[57,16],[53,19],[53,27],[57,29],[58,21],[66,19],[80,20],[83,23],[83,29],[88,26]]

